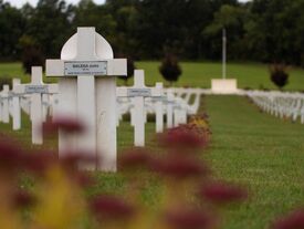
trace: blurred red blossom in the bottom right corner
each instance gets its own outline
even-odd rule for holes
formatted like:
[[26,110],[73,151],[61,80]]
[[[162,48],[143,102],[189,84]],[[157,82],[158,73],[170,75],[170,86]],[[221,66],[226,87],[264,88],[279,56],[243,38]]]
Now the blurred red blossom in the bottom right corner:
[[302,229],[304,228],[304,209],[296,210],[289,216],[276,220],[274,229]]

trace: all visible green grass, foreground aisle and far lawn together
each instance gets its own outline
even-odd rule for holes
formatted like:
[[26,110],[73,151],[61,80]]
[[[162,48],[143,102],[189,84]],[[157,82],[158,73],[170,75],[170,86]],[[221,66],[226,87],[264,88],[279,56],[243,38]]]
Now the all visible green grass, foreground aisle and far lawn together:
[[[149,84],[161,80],[158,63],[140,62],[138,67],[146,70]],[[211,77],[221,74],[217,63],[184,63],[184,73],[179,84],[192,86],[210,86]],[[21,65],[0,64],[0,75],[11,77],[21,75],[22,81],[29,80],[22,74]],[[23,76],[22,76],[23,75]],[[229,75],[239,79],[239,85],[272,87],[268,77],[268,67],[261,64],[230,64]],[[304,72],[291,72],[290,90],[304,89]],[[203,107],[210,115],[213,132],[212,143],[206,158],[217,177],[249,186],[250,200],[230,207],[224,211],[228,229],[268,228],[271,221],[304,205],[304,125],[281,121],[262,114],[247,98],[238,96],[206,96]],[[11,124],[0,124],[1,133],[17,137],[25,147],[31,146],[29,118],[23,116],[22,131],[12,132]],[[153,139],[155,125],[146,125],[147,146],[158,149]],[[133,145],[133,128],[123,122],[118,128],[118,149]],[[56,139],[45,138],[46,148],[56,148]],[[122,174],[95,174],[98,183],[88,195],[114,192],[124,195],[126,183]],[[140,175],[138,175],[140,177]],[[159,184],[153,177],[141,177],[147,181],[143,200],[157,208]]]

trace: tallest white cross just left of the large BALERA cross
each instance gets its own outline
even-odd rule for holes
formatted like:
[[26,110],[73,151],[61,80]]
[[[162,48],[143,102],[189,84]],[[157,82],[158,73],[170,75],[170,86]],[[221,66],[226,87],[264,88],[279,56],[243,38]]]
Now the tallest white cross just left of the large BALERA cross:
[[31,106],[30,106],[30,118],[32,123],[32,143],[42,144],[42,94],[57,93],[56,84],[44,84],[42,82],[42,67],[32,66],[31,83],[29,84],[17,84],[14,92],[18,94],[30,94]]

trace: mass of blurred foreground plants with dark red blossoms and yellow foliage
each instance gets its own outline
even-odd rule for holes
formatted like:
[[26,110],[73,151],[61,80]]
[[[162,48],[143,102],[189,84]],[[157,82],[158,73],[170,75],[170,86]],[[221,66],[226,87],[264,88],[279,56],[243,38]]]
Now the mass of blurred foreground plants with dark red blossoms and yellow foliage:
[[[83,131],[76,121],[44,126],[67,133]],[[86,197],[94,185],[78,165],[97,158],[84,153],[27,152],[2,137],[0,143],[0,225],[4,229],[213,229],[221,226],[220,208],[247,198],[247,190],[218,181],[202,159],[211,132],[207,116],[158,136],[159,152],[132,148],[119,158],[127,189],[124,197]],[[102,158],[101,158],[102,159]],[[22,177],[31,180],[24,185]],[[157,179],[161,197],[157,209],[140,199],[147,179]]]

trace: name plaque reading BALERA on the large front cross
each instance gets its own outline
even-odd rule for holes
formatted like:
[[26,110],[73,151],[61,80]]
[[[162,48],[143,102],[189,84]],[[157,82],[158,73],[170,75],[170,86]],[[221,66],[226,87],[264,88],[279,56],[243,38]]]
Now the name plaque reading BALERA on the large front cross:
[[107,75],[106,61],[64,62],[64,75]]

